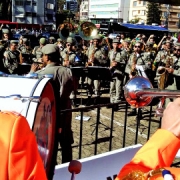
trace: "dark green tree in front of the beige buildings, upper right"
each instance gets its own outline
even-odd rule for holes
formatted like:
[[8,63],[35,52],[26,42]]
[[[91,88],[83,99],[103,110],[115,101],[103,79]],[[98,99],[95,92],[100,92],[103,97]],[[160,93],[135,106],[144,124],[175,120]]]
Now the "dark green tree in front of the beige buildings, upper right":
[[161,10],[158,3],[149,2],[147,5],[147,24],[161,24]]

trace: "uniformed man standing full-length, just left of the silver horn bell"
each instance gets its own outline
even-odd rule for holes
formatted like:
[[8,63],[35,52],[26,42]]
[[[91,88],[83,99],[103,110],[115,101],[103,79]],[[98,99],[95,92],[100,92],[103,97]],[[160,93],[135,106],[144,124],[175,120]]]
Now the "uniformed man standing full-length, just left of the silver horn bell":
[[121,85],[124,78],[124,70],[127,56],[118,48],[119,40],[113,39],[113,49],[109,51],[110,71],[112,81],[110,82],[110,102],[118,103],[121,101]]

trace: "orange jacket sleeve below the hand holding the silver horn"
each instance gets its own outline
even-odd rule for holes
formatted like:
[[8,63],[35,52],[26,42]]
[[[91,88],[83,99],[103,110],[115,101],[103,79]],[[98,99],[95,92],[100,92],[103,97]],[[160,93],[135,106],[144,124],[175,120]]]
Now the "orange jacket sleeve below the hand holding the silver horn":
[[[151,139],[136,153],[134,158],[126,164],[119,172],[116,180],[121,180],[132,171],[140,170],[144,173],[150,170],[165,168],[180,179],[180,169],[171,168],[177,151],[180,148],[180,139],[171,132],[159,129]],[[162,180],[162,175],[151,179]]]

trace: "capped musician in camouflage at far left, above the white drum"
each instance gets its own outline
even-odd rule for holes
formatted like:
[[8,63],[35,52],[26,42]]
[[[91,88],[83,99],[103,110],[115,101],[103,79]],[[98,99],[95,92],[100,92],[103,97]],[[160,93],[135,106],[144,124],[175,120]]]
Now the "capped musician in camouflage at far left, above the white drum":
[[11,40],[9,49],[4,52],[4,67],[8,70],[9,74],[18,74],[19,64],[22,63],[17,46],[18,42]]

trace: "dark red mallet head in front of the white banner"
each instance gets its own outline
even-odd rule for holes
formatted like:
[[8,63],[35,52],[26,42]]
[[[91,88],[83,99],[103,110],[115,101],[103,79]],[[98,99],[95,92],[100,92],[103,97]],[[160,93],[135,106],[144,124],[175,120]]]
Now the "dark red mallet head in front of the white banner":
[[72,173],[71,180],[75,180],[75,174],[79,174],[81,172],[81,167],[82,164],[79,161],[72,160],[69,163],[68,170],[70,173]]

